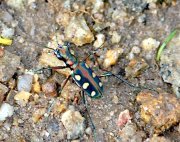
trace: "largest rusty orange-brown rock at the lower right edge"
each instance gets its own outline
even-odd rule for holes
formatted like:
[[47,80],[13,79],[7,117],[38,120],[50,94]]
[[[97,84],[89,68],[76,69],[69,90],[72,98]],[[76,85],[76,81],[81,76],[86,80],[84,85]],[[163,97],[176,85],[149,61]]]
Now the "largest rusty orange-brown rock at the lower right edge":
[[171,94],[161,93],[158,96],[147,92],[140,92],[136,98],[141,104],[140,114],[151,128],[152,133],[160,134],[180,121],[179,100]]

